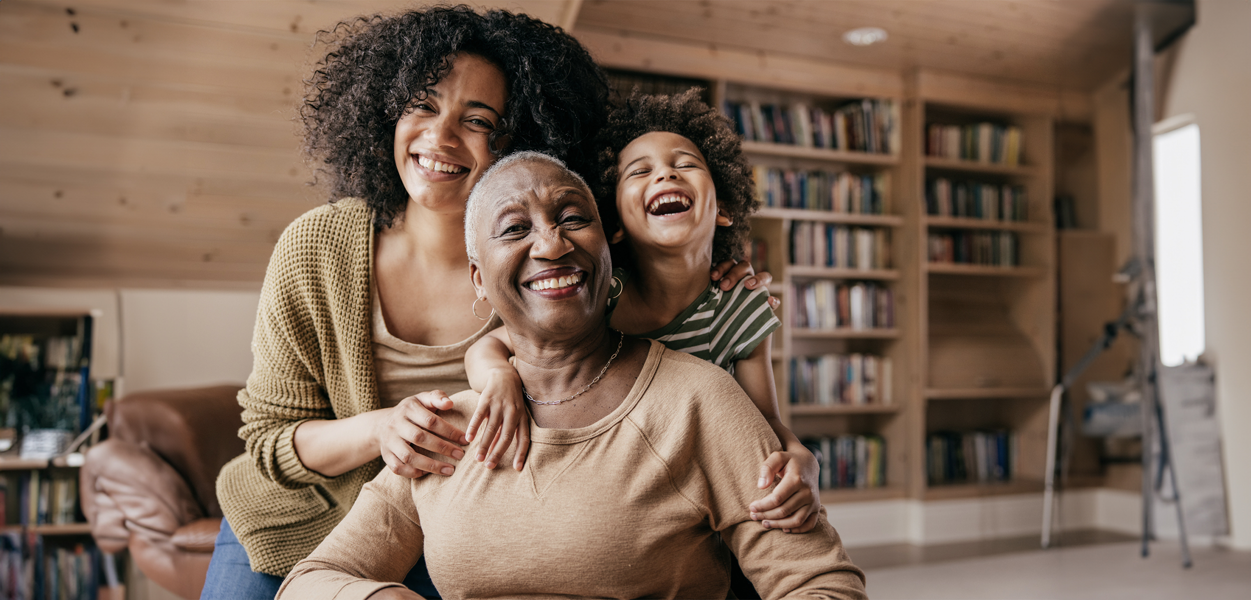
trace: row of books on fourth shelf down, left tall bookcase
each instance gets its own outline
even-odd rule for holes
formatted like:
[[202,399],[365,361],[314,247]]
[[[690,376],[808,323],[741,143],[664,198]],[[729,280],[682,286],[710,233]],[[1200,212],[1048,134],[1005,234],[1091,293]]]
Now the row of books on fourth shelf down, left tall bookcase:
[[894,326],[894,294],[872,281],[816,280],[791,285],[799,329],[889,329]]

